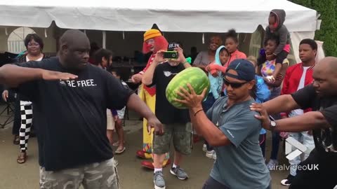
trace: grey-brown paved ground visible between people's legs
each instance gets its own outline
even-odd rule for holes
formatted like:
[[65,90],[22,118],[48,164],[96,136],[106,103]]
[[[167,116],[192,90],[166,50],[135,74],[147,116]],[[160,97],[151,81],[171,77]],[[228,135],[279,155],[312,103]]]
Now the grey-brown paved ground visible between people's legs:
[[[2,110],[3,107],[0,107],[0,109]],[[132,117],[136,118],[137,116],[131,115]],[[4,118],[0,118],[0,123],[3,120]],[[126,121],[126,126],[124,127],[124,130],[126,130],[126,151],[122,155],[116,155],[119,161],[118,172],[121,179],[121,188],[123,189],[153,188],[152,172],[140,167],[141,160],[136,158],[135,155],[136,150],[142,144],[141,125],[142,123],[138,120]],[[0,189],[39,188],[37,139],[29,139],[29,156],[27,162],[23,165],[19,165],[16,162],[19,146],[13,145],[12,140],[11,124],[4,129],[0,128]],[[270,138],[267,139],[267,154],[270,154],[269,144]],[[201,188],[213,165],[213,161],[206,158],[204,152],[201,151],[201,146],[201,142],[195,144],[192,155],[183,162],[183,168],[190,175],[190,179],[187,181],[176,179],[169,173],[169,168],[164,169],[166,188]],[[283,148],[280,148],[279,155],[280,157],[282,156],[280,164],[286,163]],[[279,181],[287,174],[286,171],[272,171],[272,188],[286,188],[282,187]]]

